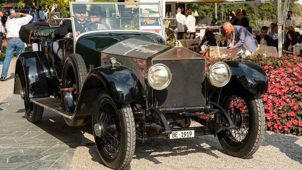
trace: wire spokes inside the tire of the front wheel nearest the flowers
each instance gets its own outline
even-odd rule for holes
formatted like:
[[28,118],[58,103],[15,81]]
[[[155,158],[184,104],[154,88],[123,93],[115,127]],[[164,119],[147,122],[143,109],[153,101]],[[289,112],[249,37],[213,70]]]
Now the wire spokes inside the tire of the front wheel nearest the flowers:
[[237,129],[225,130],[226,134],[233,142],[242,142],[250,127],[250,113],[245,100],[238,94],[234,94],[226,100],[224,108],[237,126]]

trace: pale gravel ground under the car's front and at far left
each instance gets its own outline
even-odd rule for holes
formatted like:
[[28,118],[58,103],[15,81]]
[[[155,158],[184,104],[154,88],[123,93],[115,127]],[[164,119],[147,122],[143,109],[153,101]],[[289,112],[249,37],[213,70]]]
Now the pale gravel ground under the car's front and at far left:
[[[13,94],[15,62],[16,58],[13,58],[7,80],[0,82],[0,102]],[[96,150],[91,123],[82,128],[82,142],[70,158],[69,168],[108,169]],[[302,169],[301,155],[301,136],[268,131],[265,132],[262,146],[249,159],[227,155],[218,139],[212,135],[150,140],[145,143],[138,140],[135,155],[128,169]]]

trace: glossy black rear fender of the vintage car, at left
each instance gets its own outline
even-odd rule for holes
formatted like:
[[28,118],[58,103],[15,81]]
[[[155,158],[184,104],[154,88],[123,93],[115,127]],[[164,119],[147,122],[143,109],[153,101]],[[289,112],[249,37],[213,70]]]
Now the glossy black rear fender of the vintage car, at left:
[[49,97],[49,88],[36,51],[21,53],[16,62],[14,94],[26,86],[29,99]]

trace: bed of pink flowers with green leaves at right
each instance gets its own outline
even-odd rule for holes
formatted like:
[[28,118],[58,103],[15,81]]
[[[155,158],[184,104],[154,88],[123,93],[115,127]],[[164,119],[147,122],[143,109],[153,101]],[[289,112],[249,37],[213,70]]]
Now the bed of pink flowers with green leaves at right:
[[[232,59],[207,57],[207,66]],[[261,95],[265,109],[266,129],[275,133],[302,134],[302,57],[246,57],[260,65],[269,79],[266,94]]]

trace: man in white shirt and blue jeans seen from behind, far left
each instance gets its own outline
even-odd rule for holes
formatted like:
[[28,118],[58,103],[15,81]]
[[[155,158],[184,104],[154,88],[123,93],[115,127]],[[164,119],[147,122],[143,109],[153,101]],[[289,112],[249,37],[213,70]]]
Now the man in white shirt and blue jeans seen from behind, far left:
[[[20,18],[20,15],[24,17]],[[6,21],[7,44],[0,81],[4,81],[7,76],[8,67],[10,66],[10,61],[14,52],[16,51],[17,56],[19,56],[20,53],[25,51],[24,43],[19,37],[19,30],[22,25],[29,23],[31,19],[31,15],[15,12],[11,14],[10,19]]]

